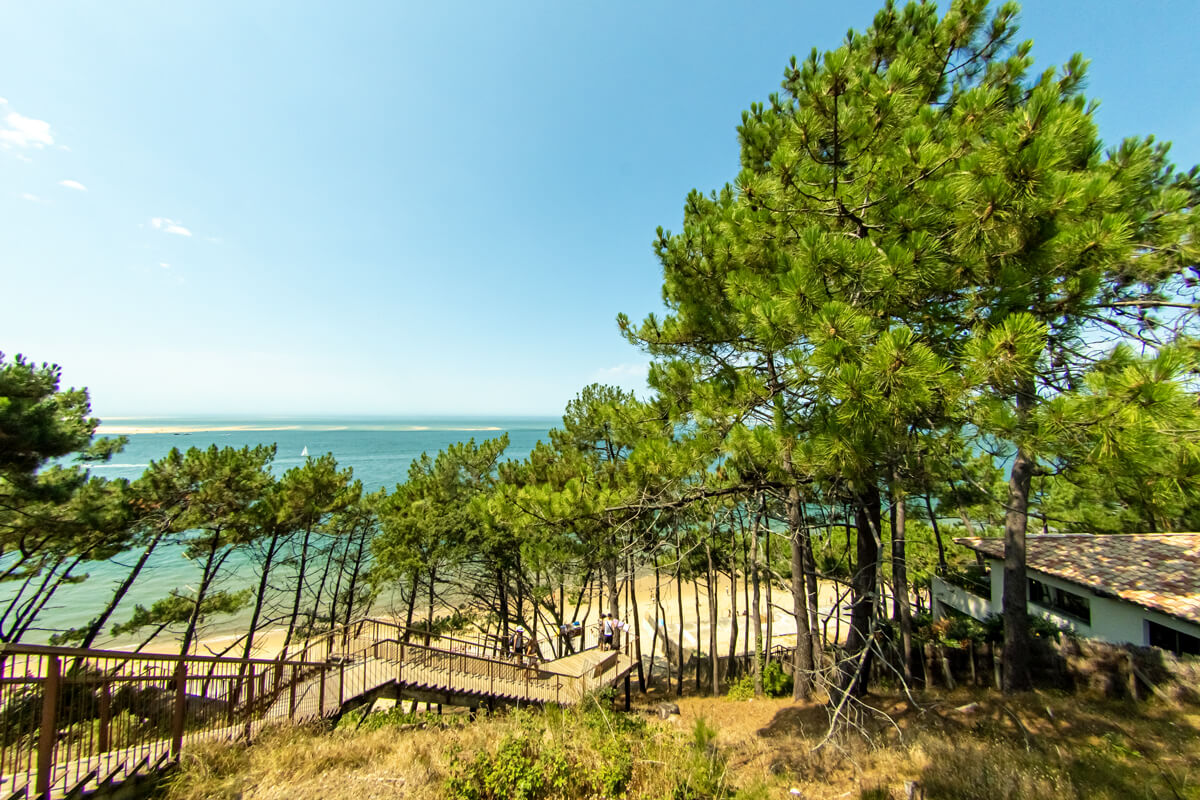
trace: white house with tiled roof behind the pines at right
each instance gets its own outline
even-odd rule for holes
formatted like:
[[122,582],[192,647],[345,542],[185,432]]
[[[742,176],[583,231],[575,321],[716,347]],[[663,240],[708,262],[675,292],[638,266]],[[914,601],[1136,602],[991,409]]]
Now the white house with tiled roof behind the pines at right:
[[[954,541],[988,569],[973,588],[936,579],[935,610],[998,614],[1003,540]],[[1082,636],[1200,655],[1200,534],[1046,534],[1025,541],[1030,613]]]

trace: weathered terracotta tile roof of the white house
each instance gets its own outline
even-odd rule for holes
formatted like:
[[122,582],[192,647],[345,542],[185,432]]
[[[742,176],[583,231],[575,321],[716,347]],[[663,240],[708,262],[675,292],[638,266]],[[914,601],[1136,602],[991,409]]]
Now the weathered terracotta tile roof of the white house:
[[[954,541],[1004,558],[1002,539]],[[1031,570],[1200,624],[1200,534],[1049,534],[1025,547]]]

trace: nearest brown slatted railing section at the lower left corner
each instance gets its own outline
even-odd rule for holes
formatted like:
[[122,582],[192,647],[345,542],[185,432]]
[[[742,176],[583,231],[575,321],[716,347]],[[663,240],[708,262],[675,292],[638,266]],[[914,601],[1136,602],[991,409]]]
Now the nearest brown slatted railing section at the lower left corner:
[[250,736],[289,686],[323,669],[305,660],[2,645],[0,796],[83,790],[197,741]]

